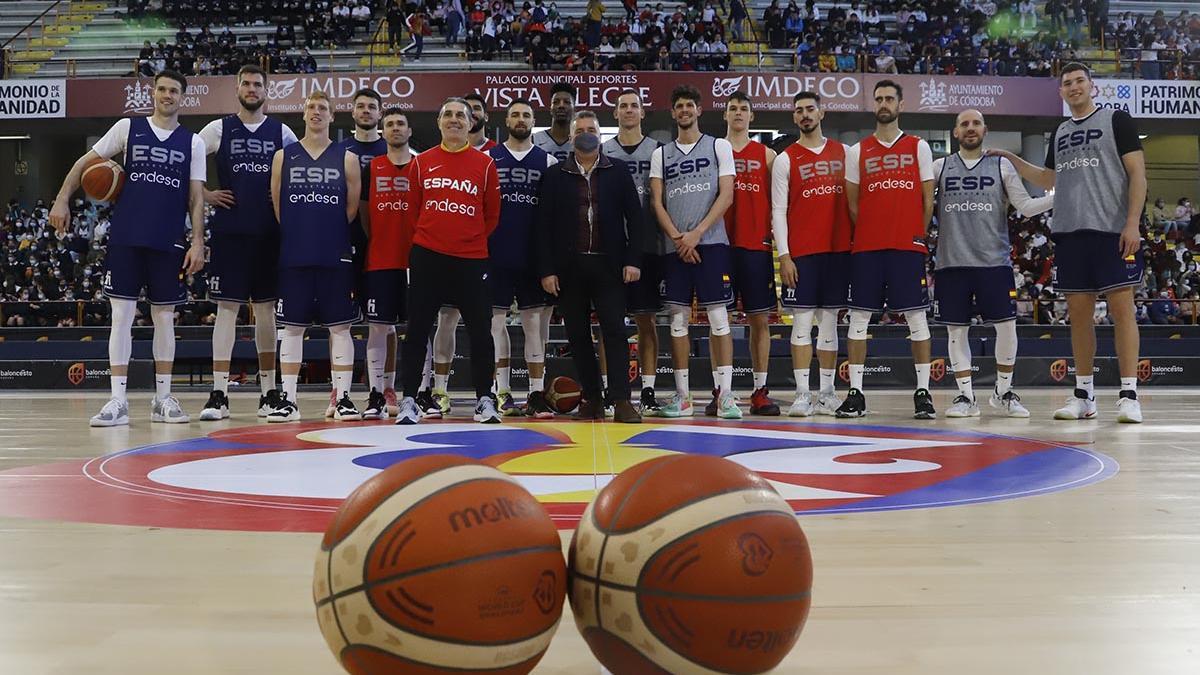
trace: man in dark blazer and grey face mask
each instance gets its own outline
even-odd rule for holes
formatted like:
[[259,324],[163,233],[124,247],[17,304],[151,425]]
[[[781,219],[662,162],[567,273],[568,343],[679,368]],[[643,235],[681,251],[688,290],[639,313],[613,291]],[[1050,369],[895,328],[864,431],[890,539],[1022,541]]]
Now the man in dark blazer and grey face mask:
[[[608,363],[629,362],[625,283],[641,276],[646,227],[637,187],[625,162],[600,153],[600,123],[581,110],[571,123],[575,151],[546,169],[539,196],[534,259],[542,288],[558,311],[583,389],[581,419],[604,419],[600,365],[592,342],[592,309],[608,350]],[[629,378],[614,370],[608,395],[617,422],[638,423],[629,402]]]

